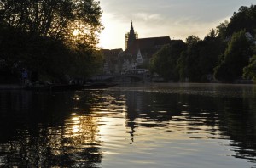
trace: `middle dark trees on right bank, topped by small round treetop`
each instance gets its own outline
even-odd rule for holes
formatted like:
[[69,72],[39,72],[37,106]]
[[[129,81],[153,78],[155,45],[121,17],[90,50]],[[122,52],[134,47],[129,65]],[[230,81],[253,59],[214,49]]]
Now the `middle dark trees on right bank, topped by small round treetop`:
[[[223,52],[225,43],[211,30],[204,40],[189,36],[188,48],[177,61],[180,81],[211,81],[213,68],[218,62],[218,55]],[[194,40],[191,40],[194,39]]]

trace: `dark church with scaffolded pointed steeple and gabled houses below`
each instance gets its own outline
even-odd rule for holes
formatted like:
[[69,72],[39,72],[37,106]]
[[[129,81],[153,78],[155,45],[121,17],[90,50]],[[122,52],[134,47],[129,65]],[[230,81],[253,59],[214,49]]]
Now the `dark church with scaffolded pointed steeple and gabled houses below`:
[[[169,36],[138,38],[131,21],[131,28],[125,35],[125,51],[122,49],[102,50],[105,56],[105,74],[134,73],[148,69],[150,59],[160,48],[177,40]],[[178,40],[181,41],[181,40]]]

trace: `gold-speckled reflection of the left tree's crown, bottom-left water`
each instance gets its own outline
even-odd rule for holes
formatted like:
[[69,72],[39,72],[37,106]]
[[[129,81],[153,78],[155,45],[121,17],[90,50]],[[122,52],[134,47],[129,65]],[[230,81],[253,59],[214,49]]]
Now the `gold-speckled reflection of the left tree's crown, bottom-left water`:
[[[89,123],[85,124],[85,120]],[[85,120],[84,123],[73,125],[80,127],[79,132],[73,132],[73,126],[41,128],[37,137],[28,131],[19,132],[21,135],[15,137],[18,140],[1,145],[4,159],[2,165],[97,167],[96,164],[101,163],[102,156],[100,142],[95,138],[96,125],[90,123],[91,119]]]

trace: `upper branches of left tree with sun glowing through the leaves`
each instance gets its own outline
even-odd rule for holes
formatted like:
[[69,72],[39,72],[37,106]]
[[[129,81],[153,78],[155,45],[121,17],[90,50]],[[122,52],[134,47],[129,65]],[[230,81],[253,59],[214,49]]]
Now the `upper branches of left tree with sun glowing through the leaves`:
[[102,10],[94,0],[1,0],[0,11],[1,19],[20,32],[89,46],[102,29]]

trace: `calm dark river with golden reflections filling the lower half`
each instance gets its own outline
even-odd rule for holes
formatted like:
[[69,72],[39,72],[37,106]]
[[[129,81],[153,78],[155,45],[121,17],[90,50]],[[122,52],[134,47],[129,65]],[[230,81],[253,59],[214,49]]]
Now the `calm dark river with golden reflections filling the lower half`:
[[256,87],[0,91],[0,167],[256,167]]

